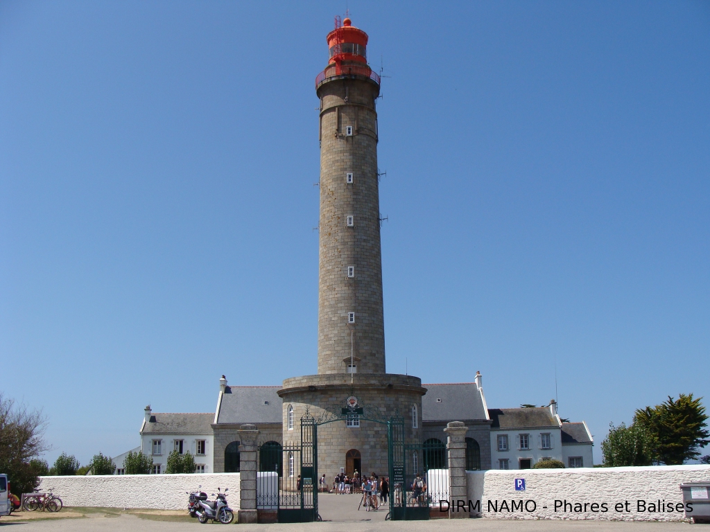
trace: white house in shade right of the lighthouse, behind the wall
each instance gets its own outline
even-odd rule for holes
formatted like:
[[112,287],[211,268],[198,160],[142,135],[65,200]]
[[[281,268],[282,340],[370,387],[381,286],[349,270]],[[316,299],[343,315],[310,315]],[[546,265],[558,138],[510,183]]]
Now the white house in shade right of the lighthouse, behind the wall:
[[586,423],[562,423],[557,403],[540,408],[489,409],[493,469],[530,469],[552,459],[591,467],[594,440]]

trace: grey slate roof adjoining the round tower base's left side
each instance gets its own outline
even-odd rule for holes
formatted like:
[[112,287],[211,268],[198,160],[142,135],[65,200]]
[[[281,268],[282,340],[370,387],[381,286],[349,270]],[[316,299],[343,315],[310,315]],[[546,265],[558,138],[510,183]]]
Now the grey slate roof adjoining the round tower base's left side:
[[227,386],[217,412],[217,423],[283,423],[283,401],[276,393],[280,388]]

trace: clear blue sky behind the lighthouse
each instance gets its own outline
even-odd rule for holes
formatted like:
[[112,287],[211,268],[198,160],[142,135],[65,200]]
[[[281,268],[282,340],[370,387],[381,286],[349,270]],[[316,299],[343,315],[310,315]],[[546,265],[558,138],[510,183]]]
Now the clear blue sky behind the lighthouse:
[[[345,2],[0,4],[0,390],[53,461],[316,372],[314,79]],[[608,423],[710,406],[710,4],[349,1],[387,369]]]

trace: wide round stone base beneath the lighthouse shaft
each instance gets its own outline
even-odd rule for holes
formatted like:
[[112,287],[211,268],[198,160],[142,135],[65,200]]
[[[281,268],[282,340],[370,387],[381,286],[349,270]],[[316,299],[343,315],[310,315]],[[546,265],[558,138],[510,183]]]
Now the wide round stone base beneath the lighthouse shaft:
[[[283,443],[300,442],[300,420],[308,411],[320,423],[318,475],[325,473],[329,486],[341,467],[348,473],[356,469],[361,474],[388,475],[386,421],[403,416],[405,439],[419,442],[425,393],[419,377],[391,373],[329,373],[285,379],[278,391],[283,399]],[[351,396],[363,409],[357,423],[339,419]]]

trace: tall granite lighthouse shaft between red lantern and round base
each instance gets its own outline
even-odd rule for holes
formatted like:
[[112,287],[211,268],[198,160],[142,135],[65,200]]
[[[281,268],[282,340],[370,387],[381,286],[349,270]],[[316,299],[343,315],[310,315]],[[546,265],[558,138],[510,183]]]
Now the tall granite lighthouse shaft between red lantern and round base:
[[[380,201],[379,86],[342,76],[317,89],[320,112],[318,372],[385,372]],[[346,135],[352,127],[352,134]],[[347,174],[353,174],[352,182]],[[348,217],[353,222],[348,225]],[[348,276],[348,267],[354,275]],[[348,314],[355,313],[354,323]]]

